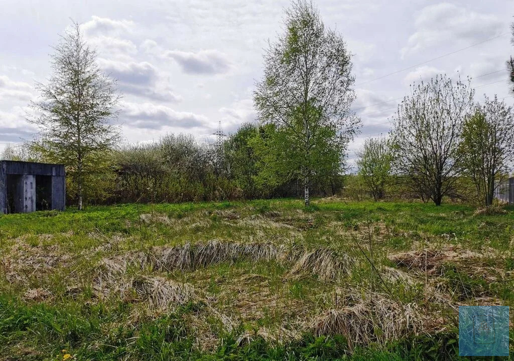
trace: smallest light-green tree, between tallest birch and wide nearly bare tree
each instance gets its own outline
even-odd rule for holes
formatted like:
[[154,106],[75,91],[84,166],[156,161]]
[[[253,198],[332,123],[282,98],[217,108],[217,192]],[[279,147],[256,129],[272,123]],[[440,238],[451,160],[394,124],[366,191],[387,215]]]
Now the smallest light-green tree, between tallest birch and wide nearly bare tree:
[[375,201],[384,196],[391,176],[393,153],[387,138],[366,139],[362,150],[357,154],[359,175],[370,190]]

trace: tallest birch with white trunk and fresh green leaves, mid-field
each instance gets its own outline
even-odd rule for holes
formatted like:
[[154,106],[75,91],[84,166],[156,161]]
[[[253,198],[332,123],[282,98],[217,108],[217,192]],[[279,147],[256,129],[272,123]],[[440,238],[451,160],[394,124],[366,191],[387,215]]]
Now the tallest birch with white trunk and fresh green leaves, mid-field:
[[350,111],[353,83],[351,54],[342,36],[325,29],[312,3],[293,2],[285,33],[265,53],[254,103],[260,120],[276,126],[275,139],[284,141],[268,150],[282,152],[274,158],[283,157],[278,164],[285,169],[275,170],[303,181],[305,205],[313,177],[334,165],[334,153],[340,169],[359,125]]

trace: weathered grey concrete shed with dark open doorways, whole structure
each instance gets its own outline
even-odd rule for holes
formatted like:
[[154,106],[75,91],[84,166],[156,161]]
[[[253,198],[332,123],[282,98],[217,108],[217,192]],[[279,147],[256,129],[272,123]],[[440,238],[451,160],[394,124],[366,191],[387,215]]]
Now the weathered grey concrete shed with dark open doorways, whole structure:
[[64,165],[0,161],[0,213],[64,211]]

